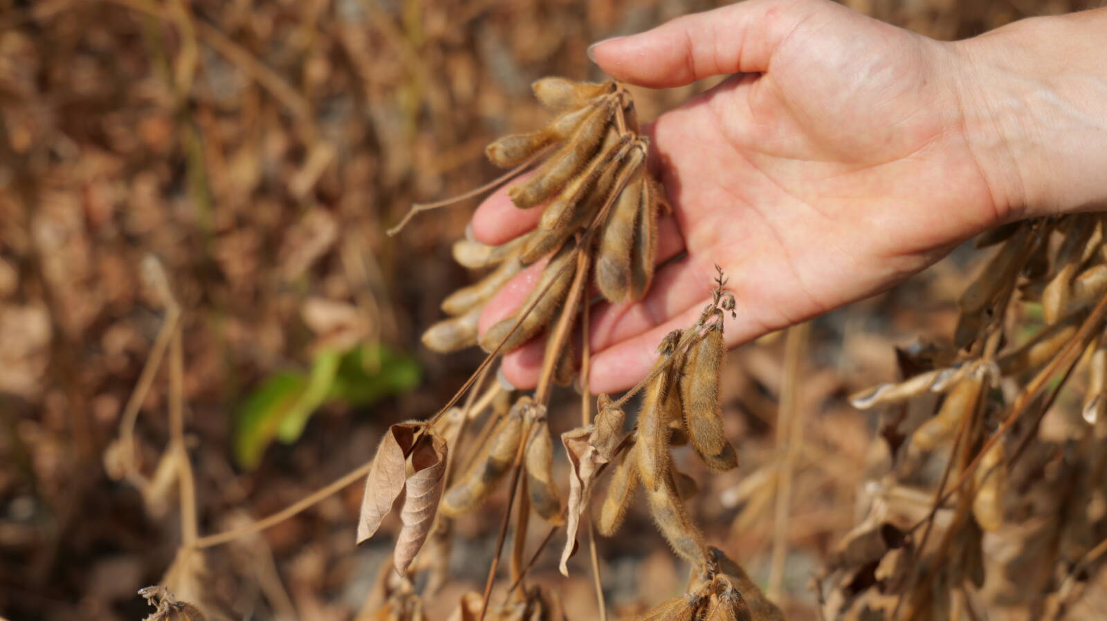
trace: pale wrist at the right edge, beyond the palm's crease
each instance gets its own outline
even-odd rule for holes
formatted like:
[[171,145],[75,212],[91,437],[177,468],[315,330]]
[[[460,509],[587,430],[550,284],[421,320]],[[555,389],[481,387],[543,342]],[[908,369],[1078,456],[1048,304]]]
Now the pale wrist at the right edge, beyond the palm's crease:
[[1107,11],[951,43],[962,131],[1003,220],[1107,206]]

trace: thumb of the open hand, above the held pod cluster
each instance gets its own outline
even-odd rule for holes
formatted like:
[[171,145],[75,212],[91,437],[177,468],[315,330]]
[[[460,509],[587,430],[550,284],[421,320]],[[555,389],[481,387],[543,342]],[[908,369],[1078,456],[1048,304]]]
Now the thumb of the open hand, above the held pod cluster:
[[653,89],[683,86],[712,75],[761,73],[768,70],[776,46],[819,4],[746,0],[593,43],[588,55],[611,76]]

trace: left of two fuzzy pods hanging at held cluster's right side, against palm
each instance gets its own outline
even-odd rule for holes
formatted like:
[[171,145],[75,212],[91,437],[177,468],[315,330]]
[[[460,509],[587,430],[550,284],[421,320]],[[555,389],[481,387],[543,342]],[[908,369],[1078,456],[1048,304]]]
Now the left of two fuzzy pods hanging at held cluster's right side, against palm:
[[631,291],[631,251],[634,246],[634,229],[642,204],[641,166],[645,153],[635,148],[628,157],[628,167],[637,170],[627,186],[619,193],[611,215],[603,225],[603,235],[596,259],[596,286],[609,302],[622,302]]

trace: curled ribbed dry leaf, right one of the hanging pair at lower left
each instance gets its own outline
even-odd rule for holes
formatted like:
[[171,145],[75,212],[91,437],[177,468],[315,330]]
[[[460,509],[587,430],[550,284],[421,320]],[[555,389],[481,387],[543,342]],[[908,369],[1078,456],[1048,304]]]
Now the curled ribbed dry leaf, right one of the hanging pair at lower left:
[[411,454],[412,475],[404,485],[403,528],[392,555],[396,572],[403,575],[431,532],[442,498],[446,474],[446,441],[428,432],[415,443]]

